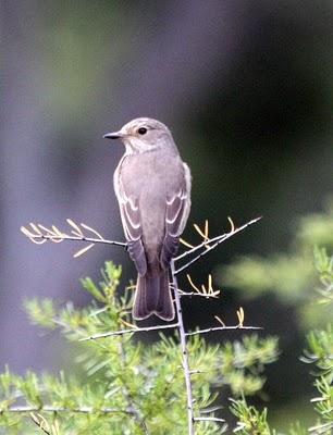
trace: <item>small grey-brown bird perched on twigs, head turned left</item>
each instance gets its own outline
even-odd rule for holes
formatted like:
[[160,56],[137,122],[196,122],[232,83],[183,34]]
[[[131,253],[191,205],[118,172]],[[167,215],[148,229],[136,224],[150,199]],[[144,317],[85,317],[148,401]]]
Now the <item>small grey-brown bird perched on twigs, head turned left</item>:
[[174,308],[169,265],[190,209],[190,172],[169,128],[139,117],[107,139],[121,139],[125,153],[113,176],[128,253],[138,272],[133,316],[170,321]]

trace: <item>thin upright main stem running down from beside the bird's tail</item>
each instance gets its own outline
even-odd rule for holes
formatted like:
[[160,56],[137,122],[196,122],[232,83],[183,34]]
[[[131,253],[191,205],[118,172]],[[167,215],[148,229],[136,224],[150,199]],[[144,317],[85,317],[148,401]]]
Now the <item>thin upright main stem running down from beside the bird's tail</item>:
[[175,275],[174,260],[171,260],[171,274],[172,274],[173,288],[175,289],[174,299],[175,299],[175,306],[176,306],[176,311],[177,311],[178,331],[180,331],[180,337],[181,337],[181,348],[182,348],[182,353],[183,353],[183,368],[184,368],[184,376],[185,376],[185,385],[186,385],[186,394],[187,394],[188,435],[195,435],[193,393],[192,393],[188,353],[187,353],[187,346],[186,346],[186,333],[185,333],[184,322],[183,322],[181,298],[180,298],[180,294],[177,291],[178,285],[177,285],[177,278]]

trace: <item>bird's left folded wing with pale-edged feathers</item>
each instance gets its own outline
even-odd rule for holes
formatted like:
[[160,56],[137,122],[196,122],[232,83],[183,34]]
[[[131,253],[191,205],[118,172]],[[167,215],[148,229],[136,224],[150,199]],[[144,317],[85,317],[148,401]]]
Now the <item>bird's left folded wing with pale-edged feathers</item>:
[[122,224],[127,240],[127,250],[137,272],[143,276],[147,272],[147,260],[141,241],[143,227],[138,200],[137,198],[127,196],[119,181],[115,186]]

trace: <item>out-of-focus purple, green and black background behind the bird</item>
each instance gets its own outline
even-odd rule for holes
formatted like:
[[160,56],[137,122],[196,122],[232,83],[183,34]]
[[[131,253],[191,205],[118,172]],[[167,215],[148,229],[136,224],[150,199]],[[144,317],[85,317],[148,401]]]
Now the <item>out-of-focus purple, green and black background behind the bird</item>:
[[36,247],[18,228],[65,229],[71,217],[121,240],[112,174],[123,149],[102,135],[150,116],[192,167],[184,238],[197,240],[194,222],[208,219],[215,235],[227,216],[263,215],[192,271],[197,283],[213,272],[222,297],[187,300],[187,325],[213,314],[234,323],[243,306],[247,323],[281,339],[266,386],[273,424],[304,413],[312,378],[298,357],[320,319],[307,297],[316,240],[301,231],[332,222],[333,2],[2,0],[0,26],[0,366],[57,371],[65,358],[57,334],[29,325],[26,298],[84,304],[79,278],[98,277],[109,259],[124,283],[135,276],[120,249],[73,259],[78,247]]

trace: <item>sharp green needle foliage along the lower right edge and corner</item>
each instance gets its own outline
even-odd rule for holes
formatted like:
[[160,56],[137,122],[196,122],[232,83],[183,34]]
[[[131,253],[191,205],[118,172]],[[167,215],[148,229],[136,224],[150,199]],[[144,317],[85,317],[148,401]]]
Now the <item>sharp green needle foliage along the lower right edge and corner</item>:
[[[314,265],[320,287],[316,288],[318,304],[331,304],[333,302],[333,257],[329,257],[326,250],[314,249]],[[316,375],[314,388],[317,397],[313,403],[317,413],[316,423],[306,428],[301,424],[294,425],[289,435],[332,435],[333,432],[333,326],[329,323],[322,330],[313,330],[307,335],[307,349],[301,361],[314,366],[311,373]],[[270,428],[268,423],[268,410],[258,411],[246,400],[233,400],[232,412],[236,415],[238,423],[234,430],[240,435],[278,435]]]

